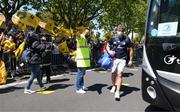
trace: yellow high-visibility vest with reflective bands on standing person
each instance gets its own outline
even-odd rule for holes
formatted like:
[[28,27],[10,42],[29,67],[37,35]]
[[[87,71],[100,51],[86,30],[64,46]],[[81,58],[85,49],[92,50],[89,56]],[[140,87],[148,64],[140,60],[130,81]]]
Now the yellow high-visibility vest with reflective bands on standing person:
[[90,52],[87,40],[84,35],[80,35],[77,40],[76,61],[77,67],[90,67]]

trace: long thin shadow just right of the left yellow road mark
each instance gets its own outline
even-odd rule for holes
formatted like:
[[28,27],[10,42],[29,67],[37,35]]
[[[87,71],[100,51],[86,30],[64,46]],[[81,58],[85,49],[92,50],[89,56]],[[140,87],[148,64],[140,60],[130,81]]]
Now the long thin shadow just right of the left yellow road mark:
[[74,84],[55,84],[48,87],[48,90],[57,90],[57,89],[65,89],[69,86],[73,86]]

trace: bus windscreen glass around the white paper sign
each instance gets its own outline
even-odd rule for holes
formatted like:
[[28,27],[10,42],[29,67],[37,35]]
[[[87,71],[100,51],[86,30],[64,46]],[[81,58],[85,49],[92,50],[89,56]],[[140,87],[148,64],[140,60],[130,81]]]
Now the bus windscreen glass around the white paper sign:
[[[151,13],[149,14],[148,34],[150,37],[180,37],[180,0],[154,0],[151,4]],[[174,22],[174,23],[173,23]],[[177,32],[174,35],[158,36],[160,24],[170,23],[177,26]]]

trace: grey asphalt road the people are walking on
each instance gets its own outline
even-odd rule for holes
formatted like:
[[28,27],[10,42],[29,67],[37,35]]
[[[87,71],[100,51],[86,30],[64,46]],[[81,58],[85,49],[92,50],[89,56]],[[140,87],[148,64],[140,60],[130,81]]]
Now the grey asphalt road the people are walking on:
[[[121,101],[115,101],[109,92],[111,74],[106,71],[88,71],[85,77],[87,94],[75,92],[76,72],[54,76],[46,84],[45,92],[24,94],[27,81],[0,89],[0,112],[144,112],[149,104],[141,97],[141,68],[125,70]],[[35,83],[33,89],[38,89]]]

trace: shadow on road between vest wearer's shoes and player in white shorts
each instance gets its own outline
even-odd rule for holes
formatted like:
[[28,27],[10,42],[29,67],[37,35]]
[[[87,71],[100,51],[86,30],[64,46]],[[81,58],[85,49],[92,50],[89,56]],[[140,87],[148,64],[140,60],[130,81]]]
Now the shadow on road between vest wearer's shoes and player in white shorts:
[[88,91],[97,91],[98,94],[102,94],[102,88],[107,86],[107,84],[94,84],[88,87]]

